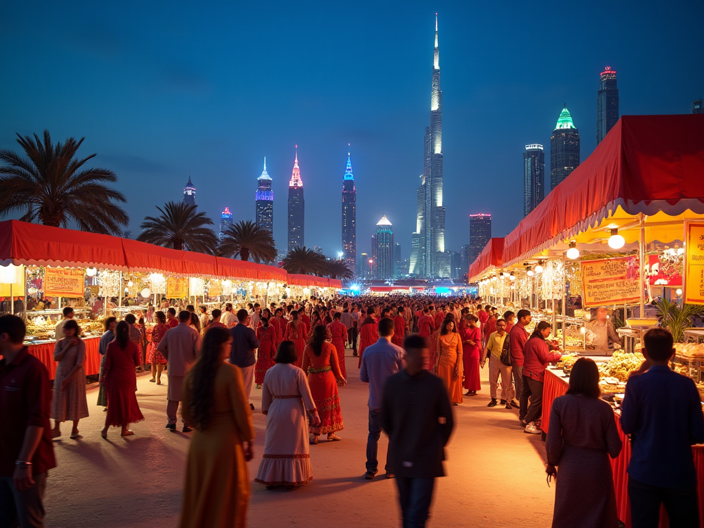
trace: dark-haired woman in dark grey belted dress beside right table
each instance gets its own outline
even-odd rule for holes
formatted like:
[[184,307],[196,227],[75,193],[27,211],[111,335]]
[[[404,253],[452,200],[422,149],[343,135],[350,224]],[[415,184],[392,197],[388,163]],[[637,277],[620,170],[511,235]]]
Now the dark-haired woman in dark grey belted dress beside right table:
[[[565,396],[555,398],[545,444],[555,485],[553,528],[617,528],[616,494],[609,457],[623,444],[611,406],[601,398],[599,370],[577,360]],[[579,501],[574,496],[579,495]]]

